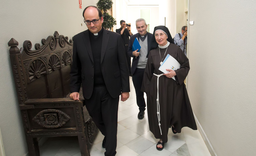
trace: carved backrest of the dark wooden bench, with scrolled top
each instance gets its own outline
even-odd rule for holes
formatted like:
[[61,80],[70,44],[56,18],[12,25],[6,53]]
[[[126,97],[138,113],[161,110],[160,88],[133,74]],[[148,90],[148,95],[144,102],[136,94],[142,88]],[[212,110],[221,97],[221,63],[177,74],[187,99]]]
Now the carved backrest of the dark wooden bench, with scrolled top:
[[[19,97],[20,104],[27,99],[62,98],[69,93],[72,40],[55,31],[54,36],[41,42],[42,46],[36,43],[35,50],[31,50],[31,42],[24,41],[19,54],[10,49],[15,76],[21,79],[17,82],[18,95],[23,95]],[[13,47],[18,42],[8,44]]]

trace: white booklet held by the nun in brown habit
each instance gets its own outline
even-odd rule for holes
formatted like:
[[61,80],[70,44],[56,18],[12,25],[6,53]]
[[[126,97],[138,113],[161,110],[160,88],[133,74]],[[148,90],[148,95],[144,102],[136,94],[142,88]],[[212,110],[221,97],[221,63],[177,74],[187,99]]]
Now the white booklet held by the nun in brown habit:
[[[172,69],[172,70],[177,70],[181,67],[180,63],[174,59],[172,56],[167,54],[166,58],[164,59],[164,62],[162,65],[159,67],[159,70],[162,71],[163,73],[168,73],[166,69]],[[173,80],[175,80],[174,76],[171,77]],[[175,80],[176,81],[176,80]]]

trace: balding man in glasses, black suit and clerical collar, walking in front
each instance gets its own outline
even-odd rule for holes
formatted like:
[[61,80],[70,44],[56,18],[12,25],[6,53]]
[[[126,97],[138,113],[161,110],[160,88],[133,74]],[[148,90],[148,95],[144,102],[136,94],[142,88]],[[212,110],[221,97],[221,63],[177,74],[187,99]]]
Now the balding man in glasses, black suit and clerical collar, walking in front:
[[116,154],[117,111],[129,98],[129,70],[122,38],[102,28],[100,9],[88,6],[83,12],[88,30],[74,36],[70,72],[70,97],[79,100],[82,83],[84,104],[101,133],[105,156]]

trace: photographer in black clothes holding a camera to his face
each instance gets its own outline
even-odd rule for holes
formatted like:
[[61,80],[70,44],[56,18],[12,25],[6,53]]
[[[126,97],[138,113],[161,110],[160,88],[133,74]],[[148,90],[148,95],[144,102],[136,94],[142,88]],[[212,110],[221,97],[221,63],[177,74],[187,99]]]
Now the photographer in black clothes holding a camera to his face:
[[128,63],[128,68],[129,68],[129,75],[132,76],[132,74],[131,74],[131,57],[127,55],[130,36],[133,35],[131,30],[130,30],[131,25],[130,24],[125,24],[125,21],[121,20],[120,21],[120,26],[121,26],[121,28],[116,29],[116,32],[118,34],[120,34],[121,37],[122,37],[123,44],[124,44],[124,49],[125,49],[125,53],[126,53],[126,58],[127,58],[127,63]]

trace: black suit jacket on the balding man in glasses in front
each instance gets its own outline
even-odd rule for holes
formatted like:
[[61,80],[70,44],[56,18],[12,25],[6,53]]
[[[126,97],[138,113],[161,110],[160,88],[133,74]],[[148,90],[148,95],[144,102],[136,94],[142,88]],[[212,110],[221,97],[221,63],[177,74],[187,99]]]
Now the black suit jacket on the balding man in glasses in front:
[[[102,35],[101,72],[110,96],[115,98],[121,92],[130,92],[126,54],[120,34],[103,30]],[[79,92],[82,83],[83,96],[89,99],[94,83],[94,62],[89,30],[75,35],[73,41],[70,92]]]

